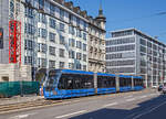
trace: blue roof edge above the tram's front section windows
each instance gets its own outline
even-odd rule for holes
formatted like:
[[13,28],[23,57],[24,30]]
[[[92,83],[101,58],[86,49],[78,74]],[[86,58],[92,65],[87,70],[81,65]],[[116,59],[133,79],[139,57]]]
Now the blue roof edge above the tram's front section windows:
[[86,74],[86,75],[93,75],[93,72],[84,72],[84,71],[72,71],[72,69],[62,69],[62,73],[71,73],[71,74]]

